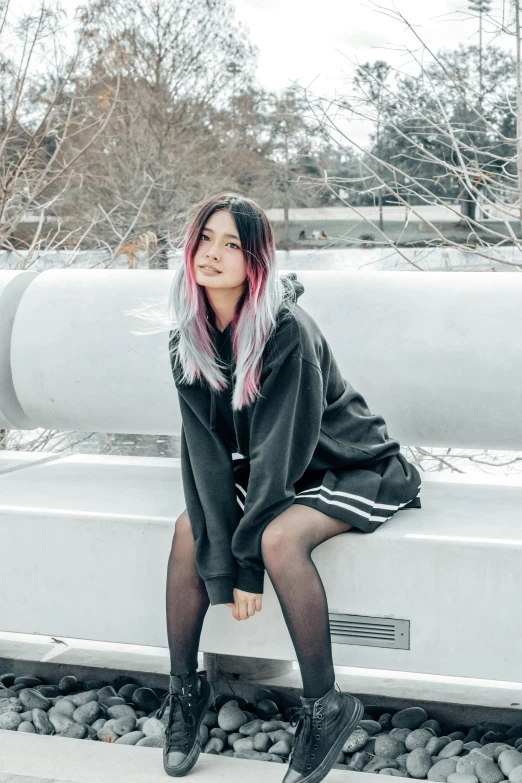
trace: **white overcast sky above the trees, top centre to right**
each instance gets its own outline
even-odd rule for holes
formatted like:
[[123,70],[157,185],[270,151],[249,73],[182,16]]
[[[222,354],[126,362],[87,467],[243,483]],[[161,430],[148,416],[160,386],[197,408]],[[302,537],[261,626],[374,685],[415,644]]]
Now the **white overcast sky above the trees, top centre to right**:
[[[502,0],[495,0],[500,5]],[[259,48],[258,79],[271,89],[292,81],[317,94],[342,92],[343,71],[354,60],[386,59],[406,65],[398,49],[413,42],[402,23],[378,12],[371,0],[233,0],[236,17]],[[379,0],[392,8],[392,0]],[[466,18],[467,0],[395,0],[395,7],[435,49],[478,42],[476,19]],[[490,36],[486,36],[486,39]]]

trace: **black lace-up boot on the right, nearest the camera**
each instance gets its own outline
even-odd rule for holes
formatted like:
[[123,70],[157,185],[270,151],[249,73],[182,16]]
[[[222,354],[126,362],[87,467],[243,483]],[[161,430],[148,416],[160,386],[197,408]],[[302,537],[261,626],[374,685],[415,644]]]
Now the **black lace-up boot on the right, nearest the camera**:
[[319,783],[335,764],[364,707],[355,696],[337,691],[335,683],[320,699],[300,698],[301,709],[291,721],[297,730],[283,783]]

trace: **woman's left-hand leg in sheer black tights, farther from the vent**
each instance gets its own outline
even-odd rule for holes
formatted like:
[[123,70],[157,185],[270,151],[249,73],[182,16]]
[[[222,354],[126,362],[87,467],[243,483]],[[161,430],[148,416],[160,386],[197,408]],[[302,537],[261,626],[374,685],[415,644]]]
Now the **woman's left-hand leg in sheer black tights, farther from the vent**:
[[167,571],[171,674],[198,668],[199,639],[209,605],[205,582],[196,570],[194,536],[185,510],[176,520]]

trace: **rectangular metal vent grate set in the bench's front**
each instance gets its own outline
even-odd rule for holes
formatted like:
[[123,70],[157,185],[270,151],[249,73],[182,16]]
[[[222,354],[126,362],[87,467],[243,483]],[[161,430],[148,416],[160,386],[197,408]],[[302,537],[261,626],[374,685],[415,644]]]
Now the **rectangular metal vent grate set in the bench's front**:
[[330,612],[332,643],[410,649],[410,621]]

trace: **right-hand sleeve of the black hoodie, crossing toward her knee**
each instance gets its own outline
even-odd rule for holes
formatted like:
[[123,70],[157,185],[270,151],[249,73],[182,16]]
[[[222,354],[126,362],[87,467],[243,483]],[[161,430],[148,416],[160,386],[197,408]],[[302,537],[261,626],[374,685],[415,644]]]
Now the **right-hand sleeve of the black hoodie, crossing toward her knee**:
[[294,484],[311,462],[323,413],[319,366],[292,353],[273,366],[260,388],[250,426],[250,473],[243,517],[232,537],[238,572],[234,587],[262,593],[261,537],[289,508]]

